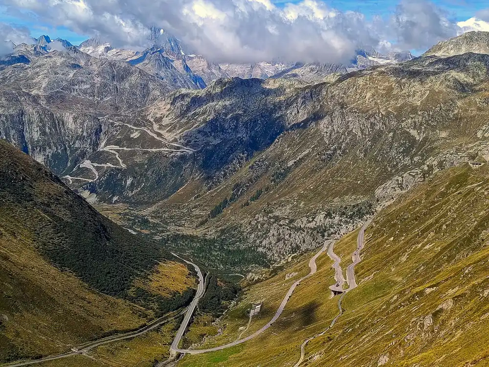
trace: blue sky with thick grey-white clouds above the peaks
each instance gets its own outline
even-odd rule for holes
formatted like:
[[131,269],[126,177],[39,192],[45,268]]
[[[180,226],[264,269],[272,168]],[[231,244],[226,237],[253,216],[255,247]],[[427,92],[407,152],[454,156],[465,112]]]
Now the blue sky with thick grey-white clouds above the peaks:
[[0,0],[1,41],[98,36],[138,49],[156,26],[217,62],[345,62],[358,46],[419,53],[489,31],[486,21],[482,0]]

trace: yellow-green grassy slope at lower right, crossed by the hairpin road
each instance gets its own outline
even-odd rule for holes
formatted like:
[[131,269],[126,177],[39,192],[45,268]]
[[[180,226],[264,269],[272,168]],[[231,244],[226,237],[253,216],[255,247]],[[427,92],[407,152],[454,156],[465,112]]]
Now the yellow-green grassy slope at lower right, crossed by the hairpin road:
[[[378,215],[356,268],[360,286],[345,298],[346,312],[334,328],[308,344],[311,359],[304,366],[377,366],[386,360],[386,366],[487,366],[488,174],[487,165],[448,169]],[[346,236],[337,248],[355,242]],[[345,268],[351,260],[343,260]],[[297,288],[281,319],[262,336],[234,350],[186,357],[180,366],[293,366],[300,344],[337,312],[327,289],[333,284],[330,264],[326,255],[319,258],[318,273]],[[262,295],[275,310],[281,297],[271,285],[285,283],[288,272],[251,286],[236,310]],[[233,312],[225,320],[232,334],[227,340],[245,323]],[[261,321],[255,322],[256,328]],[[212,362],[219,359],[225,362]]]

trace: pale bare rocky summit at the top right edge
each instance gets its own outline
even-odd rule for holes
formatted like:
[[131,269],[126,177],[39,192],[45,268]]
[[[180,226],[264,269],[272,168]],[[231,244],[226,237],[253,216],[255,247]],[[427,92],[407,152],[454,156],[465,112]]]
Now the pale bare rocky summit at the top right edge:
[[439,42],[422,56],[447,57],[467,52],[489,54],[489,32],[472,31]]

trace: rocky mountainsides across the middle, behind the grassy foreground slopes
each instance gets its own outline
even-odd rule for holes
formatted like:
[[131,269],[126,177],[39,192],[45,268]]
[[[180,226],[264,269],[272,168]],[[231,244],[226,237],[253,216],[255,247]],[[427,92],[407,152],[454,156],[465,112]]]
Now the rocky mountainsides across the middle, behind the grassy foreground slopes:
[[175,90],[146,63],[181,55],[174,46],[129,63],[68,47],[3,69],[0,137],[90,202],[133,207],[156,237],[223,235],[270,261],[337,238],[433,173],[489,154],[487,54],[393,54],[407,60],[393,64],[369,51],[383,64],[328,69],[314,85],[286,71]]

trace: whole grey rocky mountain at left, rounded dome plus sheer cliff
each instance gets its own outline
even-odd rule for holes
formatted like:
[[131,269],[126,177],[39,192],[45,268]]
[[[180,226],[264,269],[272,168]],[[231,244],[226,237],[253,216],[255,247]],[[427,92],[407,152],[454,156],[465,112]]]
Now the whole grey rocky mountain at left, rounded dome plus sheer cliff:
[[0,78],[0,137],[58,174],[101,149],[113,128],[101,116],[144,107],[173,89],[127,63],[74,47],[12,65]]

